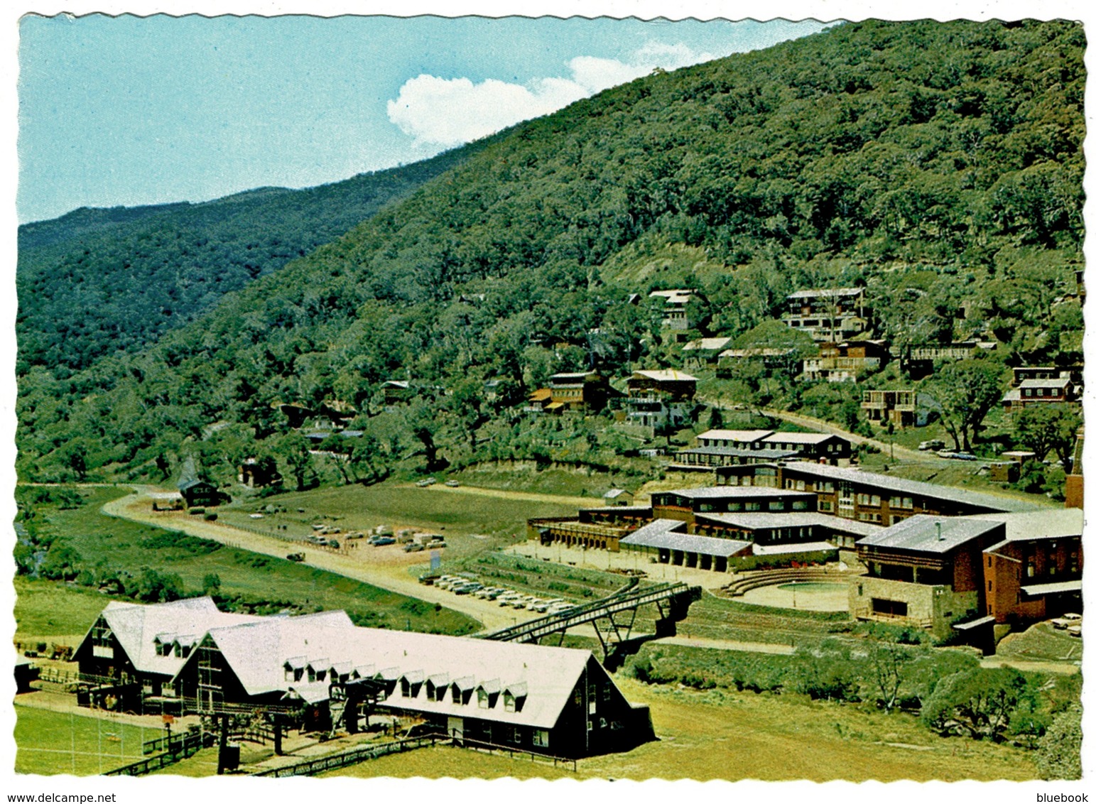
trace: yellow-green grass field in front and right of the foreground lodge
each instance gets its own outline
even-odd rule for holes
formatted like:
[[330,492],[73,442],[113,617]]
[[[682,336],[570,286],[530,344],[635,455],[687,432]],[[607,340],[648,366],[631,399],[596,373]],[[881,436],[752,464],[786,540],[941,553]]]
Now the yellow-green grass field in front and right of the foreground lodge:
[[1034,779],[1023,749],[937,737],[912,717],[798,696],[689,692],[618,679],[633,703],[648,703],[659,739],[626,754],[579,761],[578,773],[456,748],[385,757],[332,776],[518,779]]

